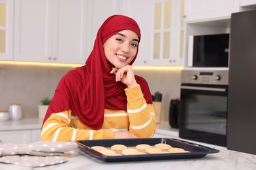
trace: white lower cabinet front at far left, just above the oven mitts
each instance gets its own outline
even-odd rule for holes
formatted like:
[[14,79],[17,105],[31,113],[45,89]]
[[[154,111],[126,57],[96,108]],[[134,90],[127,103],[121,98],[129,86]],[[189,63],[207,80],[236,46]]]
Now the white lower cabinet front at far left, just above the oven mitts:
[[31,143],[31,131],[0,131],[0,143]]

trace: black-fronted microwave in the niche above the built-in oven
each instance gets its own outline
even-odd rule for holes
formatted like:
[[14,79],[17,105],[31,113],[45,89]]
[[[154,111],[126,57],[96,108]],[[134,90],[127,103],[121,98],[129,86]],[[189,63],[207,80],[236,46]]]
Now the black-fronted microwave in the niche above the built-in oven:
[[229,34],[188,37],[188,67],[228,67]]

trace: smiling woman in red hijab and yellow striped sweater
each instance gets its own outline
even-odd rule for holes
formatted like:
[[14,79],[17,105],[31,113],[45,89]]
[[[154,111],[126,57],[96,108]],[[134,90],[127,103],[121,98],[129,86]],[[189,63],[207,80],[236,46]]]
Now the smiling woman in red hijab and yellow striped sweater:
[[140,42],[135,20],[110,16],[85,65],[60,80],[41,130],[42,141],[152,137],[151,93],[133,73]]

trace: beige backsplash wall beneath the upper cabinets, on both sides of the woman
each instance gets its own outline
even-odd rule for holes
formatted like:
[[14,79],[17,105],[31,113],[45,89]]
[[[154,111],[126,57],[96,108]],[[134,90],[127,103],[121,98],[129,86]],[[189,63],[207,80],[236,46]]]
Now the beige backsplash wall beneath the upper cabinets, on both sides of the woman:
[[[10,103],[22,104],[23,118],[36,118],[37,106],[44,97],[53,97],[60,78],[74,67],[35,65],[0,65],[0,110]],[[161,120],[168,120],[169,102],[180,95],[180,70],[135,70],[143,76],[152,94],[163,93]]]

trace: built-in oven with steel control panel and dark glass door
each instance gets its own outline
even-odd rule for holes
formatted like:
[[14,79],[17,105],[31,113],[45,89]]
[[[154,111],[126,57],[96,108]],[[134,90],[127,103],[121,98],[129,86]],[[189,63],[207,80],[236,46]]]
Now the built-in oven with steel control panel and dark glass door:
[[179,137],[226,146],[228,70],[182,70]]

